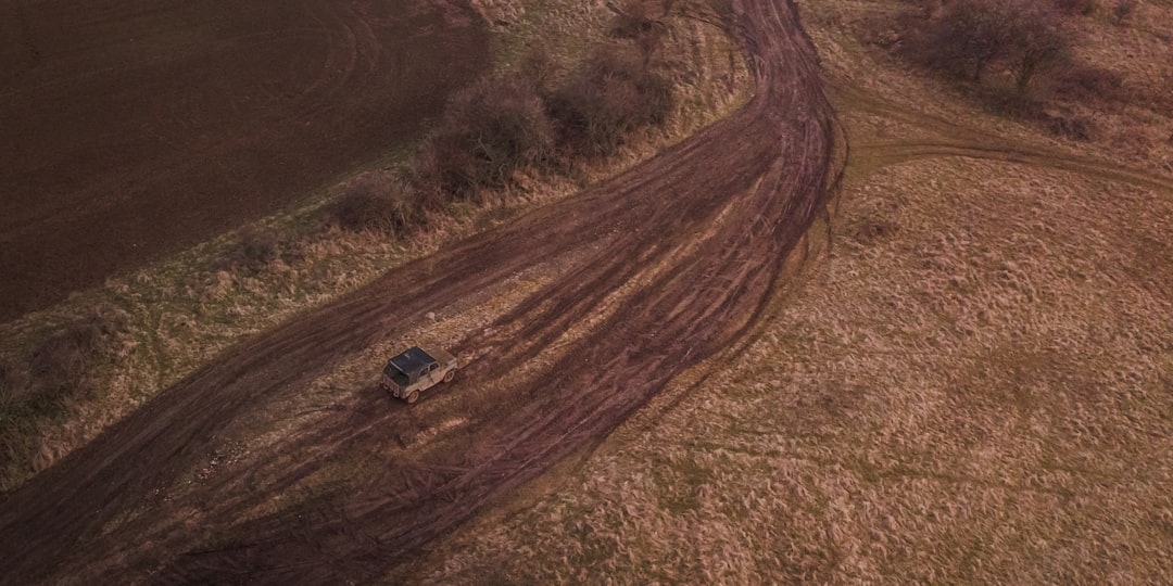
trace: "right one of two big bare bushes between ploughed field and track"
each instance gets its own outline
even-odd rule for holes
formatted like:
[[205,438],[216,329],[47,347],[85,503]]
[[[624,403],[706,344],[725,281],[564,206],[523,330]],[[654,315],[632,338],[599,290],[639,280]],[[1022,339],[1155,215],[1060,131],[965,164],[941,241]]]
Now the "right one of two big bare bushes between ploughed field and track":
[[671,83],[630,50],[597,49],[550,98],[563,143],[572,151],[601,156],[626,135],[664,123],[674,108]]

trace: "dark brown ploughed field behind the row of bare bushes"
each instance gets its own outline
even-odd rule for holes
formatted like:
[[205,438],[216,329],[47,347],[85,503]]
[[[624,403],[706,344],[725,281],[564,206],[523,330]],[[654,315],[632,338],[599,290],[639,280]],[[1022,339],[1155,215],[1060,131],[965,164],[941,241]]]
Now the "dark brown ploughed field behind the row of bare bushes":
[[0,0],[0,321],[408,144],[489,64],[453,2]]

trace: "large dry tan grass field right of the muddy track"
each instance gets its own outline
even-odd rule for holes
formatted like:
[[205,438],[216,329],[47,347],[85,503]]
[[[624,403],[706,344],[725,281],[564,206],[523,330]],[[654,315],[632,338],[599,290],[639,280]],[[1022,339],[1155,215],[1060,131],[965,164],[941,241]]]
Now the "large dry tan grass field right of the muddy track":
[[[1171,113],[984,114],[849,33],[891,6],[801,5],[853,154],[773,315],[395,581],[1173,580]],[[1168,75],[1140,9],[1087,53]]]

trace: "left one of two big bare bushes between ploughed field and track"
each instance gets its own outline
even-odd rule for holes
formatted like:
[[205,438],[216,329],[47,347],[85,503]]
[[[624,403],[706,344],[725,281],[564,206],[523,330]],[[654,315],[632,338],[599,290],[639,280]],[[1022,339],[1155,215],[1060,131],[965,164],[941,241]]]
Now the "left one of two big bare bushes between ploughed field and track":
[[449,102],[413,173],[429,197],[468,198],[507,185],[518,169],[547,162],[552,152],[554,129],[534,84],[522,77],[482,80]]

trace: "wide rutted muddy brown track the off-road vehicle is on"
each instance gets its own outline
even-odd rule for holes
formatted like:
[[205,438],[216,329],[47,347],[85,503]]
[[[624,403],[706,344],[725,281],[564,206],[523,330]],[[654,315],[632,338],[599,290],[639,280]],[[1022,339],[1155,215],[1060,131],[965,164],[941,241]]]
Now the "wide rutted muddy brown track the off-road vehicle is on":
[[[727,25],[754,75],[738,114],[242,345],[11,495],[5,581],[369,581],[608,434],[753,326],[834,190],[842,144],[796,19],[786,2],[732,2]],[[251,406],[296,395],[419,315],[569,252],[550,285],[456,348],[479,359],[445,393],[486,398],[447,449],[402,451],[396,431],[418,427],[428,400],[406,408],[368,389],[197,493],[155,497]],[[574,328],[582,334],[552,353]],[[510,376],[537,359],[529,376]],[[239,520],[354,461],[364,473],[345,490]]]

